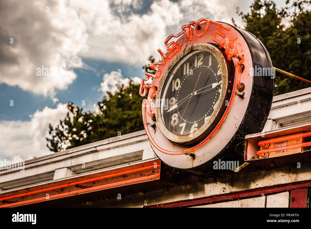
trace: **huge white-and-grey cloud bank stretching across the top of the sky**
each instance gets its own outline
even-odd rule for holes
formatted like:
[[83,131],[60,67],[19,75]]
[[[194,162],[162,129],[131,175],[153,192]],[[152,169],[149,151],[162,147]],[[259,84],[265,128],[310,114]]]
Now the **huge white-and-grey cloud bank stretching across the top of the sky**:
[[[142,0],[1,1],[0,83],[56,103],[57,90],[76,79],[72,68],[83,66],[81,57],[142,66],[149,55],[160,57],[157,49],[165,51],[165,38],[183,24],[201,17],[230,22],[235,7],[246,2],[156,0],[142,11],[149,4]],[[61,74],[38,76],[42,66]]]

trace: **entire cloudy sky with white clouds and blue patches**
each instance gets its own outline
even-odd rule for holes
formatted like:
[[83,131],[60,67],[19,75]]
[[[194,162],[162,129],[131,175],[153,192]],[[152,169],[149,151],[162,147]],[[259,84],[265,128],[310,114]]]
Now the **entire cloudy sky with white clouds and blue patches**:
[[[285,0],[275,2],[285,5]],[[0,1],[0,160],[52,153],[46,131],[65,117],[67,102],[82,107],[84,100],[85,110],[95,110],[115,83],[140,81],[147,57],[158,57],[165,38],[182,25],[202,17],[231,23],[233,17],[243,27],[235,8],[248,12],[251,3]],[[44,75],[42,66],[53,71]]]

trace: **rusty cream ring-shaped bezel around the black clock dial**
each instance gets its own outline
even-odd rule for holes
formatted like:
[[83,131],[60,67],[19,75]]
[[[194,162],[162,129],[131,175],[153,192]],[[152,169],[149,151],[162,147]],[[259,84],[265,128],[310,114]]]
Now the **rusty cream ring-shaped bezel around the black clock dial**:
[[[168,77],[170,71],[174,68],[179,60],[181,60],[184,56],[188,55],[188,53],[195,51],[195,50],[205,50],[210,52],[212,55],[215,56],[218,63],[220,64],[221,74],[222,74],[222,89],[220,93],[220,98],[214,105],[214,111],[211,113],[211,117],[208,119],[206,123],[204,123],[197,131],[190,133],[188,135],[177,135],[172,133],[167,129],[165,126],[160,111],[160,99],[162,95],[162,89],[164,88],[164,83],[166,78]],[[181,147],[189,147],[192,145],[197,144],[198,142],[202,141],[206,136],[208,136],[215,126],[220,121],[221,117],[223,116],[226,110],[226,100],[230,100],[230,92],[233,89],[233,82],[234,82],[234,73],[235,68],[234,64],[231,61],[227,60],[225,55],[225,50],[221,49],[216,44],[211,43],[197,43],[191,45],[180,52],[168,65],[166,68],[157,89],[157,95],[155,100],[156,105],[156,120],[159,126],[160,131],[162,134],[169,140],[172,141],[174,144],[181,146]]]

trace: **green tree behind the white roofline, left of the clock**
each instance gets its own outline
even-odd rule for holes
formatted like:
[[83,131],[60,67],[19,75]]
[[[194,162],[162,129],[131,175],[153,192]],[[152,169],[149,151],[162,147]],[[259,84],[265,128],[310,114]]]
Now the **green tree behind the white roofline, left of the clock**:
[[138,93],[139,87],[132,81],[128,87],[118,85],[116,93],[108,92],[98,102],[99,113],[85,112],[75,104],[67,103],[67,117],[55,128],[49,125],[47,146],[58,152],[118,136],[118,133],[124,135],[142,130],[143,97]]

